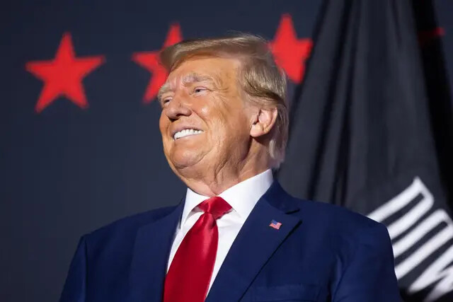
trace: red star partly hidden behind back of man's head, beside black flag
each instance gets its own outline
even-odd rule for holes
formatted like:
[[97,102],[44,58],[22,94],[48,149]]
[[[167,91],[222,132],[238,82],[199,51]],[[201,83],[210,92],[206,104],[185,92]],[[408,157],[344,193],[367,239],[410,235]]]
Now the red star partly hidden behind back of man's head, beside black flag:
[[274,40],[270,42],[270,50],[278,66],[295,83],[300,83],[304,77],[305,60],[310,55],[312,45],[309,38],[297,39],[291,15],[282,15]]

